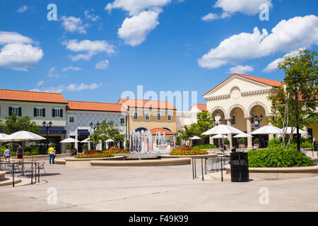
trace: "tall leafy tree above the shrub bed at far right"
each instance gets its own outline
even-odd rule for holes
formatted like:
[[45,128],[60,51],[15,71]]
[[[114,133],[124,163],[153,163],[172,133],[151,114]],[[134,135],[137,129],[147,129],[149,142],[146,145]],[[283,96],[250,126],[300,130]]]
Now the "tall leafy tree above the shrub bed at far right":
[[[286,56],[278,64],[278,69],[285,72],[284,83],[275,88],[268,96],[272,102],[272,112],[275,116],[269,119],[278,127],[307,126],[313,119],[317,119],[317,85],[318,67],[317,52],[299,50],[298,56]],[[283,133],[283,144],[292,136]]]

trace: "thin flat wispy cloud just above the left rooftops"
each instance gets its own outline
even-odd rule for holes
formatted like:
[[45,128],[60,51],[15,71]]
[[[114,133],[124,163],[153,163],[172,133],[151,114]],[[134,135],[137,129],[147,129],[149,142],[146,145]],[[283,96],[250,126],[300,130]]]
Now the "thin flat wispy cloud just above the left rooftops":
[[37,92],[47,92],[47,93],[62,93],[64,91],[80,91],[80,90],[95,90],[96,88],[100,88],[102,83],[91,83],[90,85],[86,85],[84,83],[81,84],[70,84],[70,85],[58,85],[56,87],[46,87],[46,88],[36,88],[30,91]]

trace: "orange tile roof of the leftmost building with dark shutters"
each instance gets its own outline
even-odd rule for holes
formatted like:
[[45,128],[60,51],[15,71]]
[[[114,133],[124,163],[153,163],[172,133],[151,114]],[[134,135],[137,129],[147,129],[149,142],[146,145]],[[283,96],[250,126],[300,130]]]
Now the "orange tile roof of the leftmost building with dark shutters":
[[0,100],[16,100],[28,102],[51,102],[67,104],[61,93],[43,93],[23,90],[0,89]]

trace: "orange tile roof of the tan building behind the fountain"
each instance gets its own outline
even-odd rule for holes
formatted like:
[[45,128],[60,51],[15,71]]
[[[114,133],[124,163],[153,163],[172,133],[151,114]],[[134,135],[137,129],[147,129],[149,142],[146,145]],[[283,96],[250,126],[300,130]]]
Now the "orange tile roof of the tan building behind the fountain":
[[170,102],[155,101],[155,100],[136,100],[120,98],[118,102],[122,101],[127,107],[148,107],[158,109],[177,109]]

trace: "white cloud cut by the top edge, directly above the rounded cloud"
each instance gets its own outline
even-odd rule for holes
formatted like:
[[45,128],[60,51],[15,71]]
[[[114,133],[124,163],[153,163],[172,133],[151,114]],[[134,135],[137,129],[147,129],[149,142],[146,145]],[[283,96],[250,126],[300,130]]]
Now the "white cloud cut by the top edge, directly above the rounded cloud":
[[160,8],[169,4],[171,0],[115,0],[108,3],[105,10],[112,11],[113,8],[120,8],[129,12],[129,16],[135,16],[141,11],[150,9],[151,11],[160,11]]

